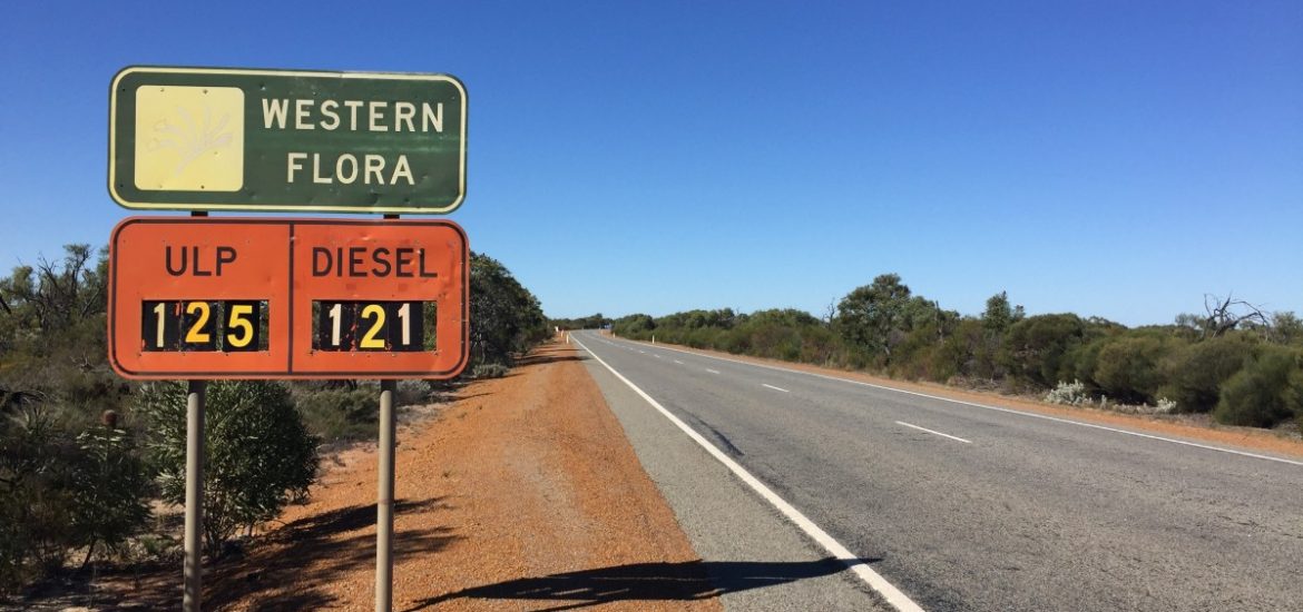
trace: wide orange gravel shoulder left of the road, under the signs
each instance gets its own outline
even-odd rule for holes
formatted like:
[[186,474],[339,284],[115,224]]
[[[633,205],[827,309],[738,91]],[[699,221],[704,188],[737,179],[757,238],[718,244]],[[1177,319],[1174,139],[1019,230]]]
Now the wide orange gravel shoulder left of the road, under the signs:
[[[576,353],[545,346],[400,428],[395,611],[719,609]],[[371,447],[327,462],[309,504],[210,570],[205,609],[373,609],[375,460]],[[179,607],[180,568],[130,582],[102,600]]]

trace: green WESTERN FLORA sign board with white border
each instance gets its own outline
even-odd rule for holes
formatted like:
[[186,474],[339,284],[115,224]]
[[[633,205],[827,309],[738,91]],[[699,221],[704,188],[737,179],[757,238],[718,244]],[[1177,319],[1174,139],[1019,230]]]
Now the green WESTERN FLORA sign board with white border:
[[109,94],[128,208],[442,214],[466,191],[466,90],[446,74],[132,66]]

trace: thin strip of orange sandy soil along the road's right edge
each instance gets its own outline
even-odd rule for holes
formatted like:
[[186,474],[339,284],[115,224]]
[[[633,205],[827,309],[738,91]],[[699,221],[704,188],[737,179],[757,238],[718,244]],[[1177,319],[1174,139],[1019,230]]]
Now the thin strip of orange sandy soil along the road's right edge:
[[[627,339],[625,339],[627,340]],[[637,341],[637,340],[635,340]],[[650,344],[650,342],[642,342]],[[985,404],[989,406],[1009,408],[1014,410],[1025,410],[1031,413],[1048,414],[1053,417],[1072,418],[1078,421],[1085,421],[1091,423],[1098,423],[1105,426],[1127,427],[1132,430],[1143,430],[1153,432],[1157,435],[1179,436],[1192,440],[1201,440],[1213,444],[1229,444],[1246,449],[1267,451],[1272,453],[1280,453],[1291,457],[1303,457],[1303,440],[1298,435],[1260,430],[1252,427],[1231,427],[1213,423],[1207,417],[1195,415],[1144,415],[1144,414],[1126,414],[1117,413],[1111,410],[1101,410],[1097,408],[1074,408],[1074,406],[1059,406],[1054,404],[1045,404],[1041,401],[1031,400],[1027,397],[1006,396],[999,393],[989,393],[980,391],[959,389],[955,387],[949,387],[937,383],[909,383],[903,380],[894,380],[882,376],[873,376],[864,372],[855,372],[848,370],[837,370],[829,367],[810,366],[805,363],[792,363],[778,359],[762,359],[758,357],[745,357],[735,355],[731,353],[723,353],[718,350],[702,350],[693,349],[681,345],[666,345],[665,342],[658,342],[658,346],[672,346],[679,350],[685,350],[689,353],[701,353],[714,357],[723,357],[727,359],[747,361],[752,363],[764,363],[769,366],[786,367],[791,370],[801,370],[807,372],[822,374],[827,376],[839,376],[852,380],[861,380],[865,383],[878,384],[882,387],[891,387],[903,391],[912,391],[916,393],[928,393],[933,396],[949,397],[960,401],[969,401],[975,404]]]

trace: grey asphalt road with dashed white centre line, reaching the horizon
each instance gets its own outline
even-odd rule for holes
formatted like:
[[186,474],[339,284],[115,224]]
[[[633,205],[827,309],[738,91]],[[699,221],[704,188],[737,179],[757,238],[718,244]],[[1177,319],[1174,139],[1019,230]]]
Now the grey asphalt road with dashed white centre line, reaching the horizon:
[[[1303,609],[1303,462],[1296,460],[595,332],[572,340],[597,358],[589,371],[609,401],[618,398],[618,413],[652,415],[659,405],[735,462],[741,470],[735,480],[753,475],[779,504],[866,560],[907,598],[906,608]],[[636,408],[628,400],[635,387]],[[628,415],[622,421],[645,465],[658,445],[688,439],[678,430],[681,440],[665,431],[646,440]],[[718,469],[719,457],[698,448],[654,460],[653,479],[680,520],[700,517],[694,507],[709,499],[665,483],[676,478],[671,470]],[[774,504],[758,492],[749,503]],[[791,513],[782,516],[805,546],[826,549]],[[719,529],[747,533],[736,525],[745,521],[741,514],[715,520]],[[694,544],[704,539],[698,553],[715,546],[705,542],[710,529],[685,530]],[[856,581],[843,576],[839,589]],[[791,605],[775,605],[783,607]]]

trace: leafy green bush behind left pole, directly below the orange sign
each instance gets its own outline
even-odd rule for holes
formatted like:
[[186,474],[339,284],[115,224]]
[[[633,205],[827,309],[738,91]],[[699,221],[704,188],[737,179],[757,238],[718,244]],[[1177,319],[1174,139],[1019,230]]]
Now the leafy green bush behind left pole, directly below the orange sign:
[[[137,400],[163,497],[173,504],[185,501],[185,397],[184,383],[167,382],[143,385]],[[238,529],[275,518],[308,494],[319,440],[279,383],[211,383],[206,413],[205,548],[216,557]]]

